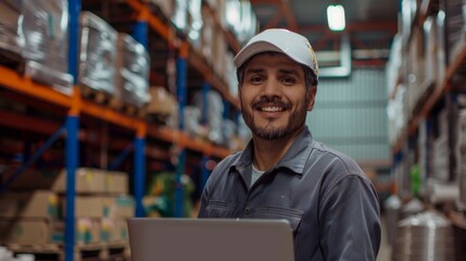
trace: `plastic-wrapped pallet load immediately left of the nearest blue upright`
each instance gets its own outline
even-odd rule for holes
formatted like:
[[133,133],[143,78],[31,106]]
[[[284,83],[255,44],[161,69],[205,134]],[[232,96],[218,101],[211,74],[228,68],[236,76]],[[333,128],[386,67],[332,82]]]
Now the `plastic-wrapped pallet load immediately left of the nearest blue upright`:
[[24,0],[26,74],[33,79],[71,94],[73,76],[68,74],[68,5],[66,0]]

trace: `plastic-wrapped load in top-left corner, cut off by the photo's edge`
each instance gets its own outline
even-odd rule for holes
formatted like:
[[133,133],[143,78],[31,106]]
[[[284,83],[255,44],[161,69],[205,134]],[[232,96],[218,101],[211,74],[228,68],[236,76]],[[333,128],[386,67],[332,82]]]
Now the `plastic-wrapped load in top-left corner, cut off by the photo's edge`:
[[23,1],[0,1],[0,49],[21,53],[24,35],[20,29]]

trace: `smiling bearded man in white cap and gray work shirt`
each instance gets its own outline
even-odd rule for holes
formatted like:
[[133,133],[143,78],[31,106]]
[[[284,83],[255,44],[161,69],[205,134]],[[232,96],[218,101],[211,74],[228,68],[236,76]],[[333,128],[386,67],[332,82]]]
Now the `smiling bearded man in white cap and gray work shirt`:
[[200,217],[286,219],[297,261],[376,260],[378,197],[349,157],[313,139],[318,66],[307,39],[286,29],[254,36],[235,58],[252,140],[218,163]]

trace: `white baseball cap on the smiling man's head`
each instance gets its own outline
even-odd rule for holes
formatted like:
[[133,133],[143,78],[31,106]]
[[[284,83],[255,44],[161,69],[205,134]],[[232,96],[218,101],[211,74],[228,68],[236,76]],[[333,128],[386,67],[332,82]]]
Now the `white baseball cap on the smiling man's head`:
[[308,40],[287,29],[266,29],[252,37],[235,57],[235,65],[240,67],[251,57],[266,51],[287,54],[298,63],[308,66],[318,77],[318,65],[314,50]]

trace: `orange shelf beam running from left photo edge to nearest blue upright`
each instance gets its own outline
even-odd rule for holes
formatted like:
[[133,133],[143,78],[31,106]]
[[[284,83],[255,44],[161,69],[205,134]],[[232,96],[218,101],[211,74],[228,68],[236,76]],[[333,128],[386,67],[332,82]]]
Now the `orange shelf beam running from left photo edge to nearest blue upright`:
[[24,77],[15,71],[0,65],[0,85],[58,105],[71,108],[72,97],[54,90],[50,86],[35,83],[29,77]]

